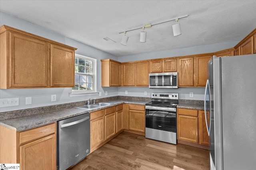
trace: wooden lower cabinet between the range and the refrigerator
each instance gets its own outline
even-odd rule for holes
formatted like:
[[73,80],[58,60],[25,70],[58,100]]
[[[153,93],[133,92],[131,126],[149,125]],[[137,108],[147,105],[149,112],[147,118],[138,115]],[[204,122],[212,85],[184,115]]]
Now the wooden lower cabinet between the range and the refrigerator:
[[210,138],[206,129],[204,111],[178,108],[177,115],[178,143],[208,149]]

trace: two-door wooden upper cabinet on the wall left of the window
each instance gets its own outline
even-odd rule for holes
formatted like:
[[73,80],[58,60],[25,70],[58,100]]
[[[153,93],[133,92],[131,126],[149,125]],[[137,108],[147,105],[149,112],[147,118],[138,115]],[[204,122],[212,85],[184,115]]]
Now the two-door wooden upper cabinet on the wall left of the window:
[[76,48],[19,29],[0,27],[0,88],[74,86]]

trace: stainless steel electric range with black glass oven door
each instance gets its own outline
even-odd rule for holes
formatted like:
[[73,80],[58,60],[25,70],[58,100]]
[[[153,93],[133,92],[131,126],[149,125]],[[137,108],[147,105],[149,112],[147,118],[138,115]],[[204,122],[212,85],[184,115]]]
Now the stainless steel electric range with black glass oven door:
[[177,93],[152,93],[146,104],[146,138],[177,144]]

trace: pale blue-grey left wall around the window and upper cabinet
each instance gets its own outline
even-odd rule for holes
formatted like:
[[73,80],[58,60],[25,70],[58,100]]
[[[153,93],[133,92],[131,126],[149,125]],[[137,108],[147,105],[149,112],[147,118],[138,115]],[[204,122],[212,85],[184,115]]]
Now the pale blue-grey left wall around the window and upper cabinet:
[[[60,43],[70,45],[72,47],[76,47],[76,54],[84,55],[87,57],[92,57],[97,59],[97,91],[102,92],[102,96],[98,95],[92,96],[79,96],[79,97],[70,97],[69,93],[72,88],[36,88],[36,89],[0,89],[0,98],[19,98],[19,106],[13,107],[0,107],[0,112],[32,108],[32,107],[41,107],[41,106],[49,106],[70,102],[77,102],[82,100],[88,100],[89,98],[102,98],[105,96],[105,91],[108,91],[108,96],[117,96],[118,88],[102,88],[101,87],[101,63],[100,59],[113,59],[118,60],[114,55],[110,55],[109,53],[105,53],[74,39],[70,39],[58,33],[52,32],[43,27],[39,27],[30,22],[20,20],[14,16],[7,15],[3,12],[0,12],[0,25],[8,25],[10,27],[14,27],[17,29],[21,29],[23,31],[27,31],[29,33],[33,33],[54,41],[58,41]],[[57,100],[56,102],[51,102],[51,95],[56,94]],[[25,98],[32,97],[32,104],[26,105]]]

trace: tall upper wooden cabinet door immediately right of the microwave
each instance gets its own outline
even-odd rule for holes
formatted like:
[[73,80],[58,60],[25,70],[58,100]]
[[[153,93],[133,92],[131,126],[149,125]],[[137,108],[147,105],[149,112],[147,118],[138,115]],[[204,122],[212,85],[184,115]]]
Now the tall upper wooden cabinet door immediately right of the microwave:
[[194,86],[194,58],[179,59],[179,86]]

